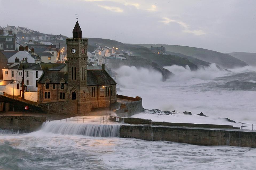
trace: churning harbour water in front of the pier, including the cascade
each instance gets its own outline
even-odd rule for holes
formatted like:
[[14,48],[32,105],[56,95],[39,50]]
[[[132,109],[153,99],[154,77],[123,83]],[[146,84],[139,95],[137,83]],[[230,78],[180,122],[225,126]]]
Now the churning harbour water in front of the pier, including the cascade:
[[[103,126],[109,129],[112,125]],[[47,122],[41,130],[32,133],[3,133],[0,169],[200,170],[255,169],[256,165],[256,148],[117,138],[108,130],[81,135],[86,128],[104,129],[98,125]],[[95,137],[101,134],[105,137]]]

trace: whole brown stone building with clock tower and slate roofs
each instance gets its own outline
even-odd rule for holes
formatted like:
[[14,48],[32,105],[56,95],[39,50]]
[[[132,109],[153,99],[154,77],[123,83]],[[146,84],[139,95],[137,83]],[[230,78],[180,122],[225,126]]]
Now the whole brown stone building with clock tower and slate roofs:
[[[76,22],[73,38],[66,39],[67,72],[49,71],[38,80],[37,102],[77,100],[77,113],[108,107],[116,102],[116,82],[105,71],[87,70],[88,39],[82,38],[82,30]],[[61,103],[60,103],[61,105]]]

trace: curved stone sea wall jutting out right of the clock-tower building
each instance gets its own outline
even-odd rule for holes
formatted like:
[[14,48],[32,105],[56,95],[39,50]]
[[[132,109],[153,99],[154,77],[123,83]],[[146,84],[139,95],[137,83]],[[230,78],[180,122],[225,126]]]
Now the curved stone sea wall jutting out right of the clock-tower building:
[[142,98],[140,98],[139,96],[136,96],[134,98],[117,94],[116,97],[132,101],[121,104],[120,109],[125,109],[125,112],[140,113],[143,111]]

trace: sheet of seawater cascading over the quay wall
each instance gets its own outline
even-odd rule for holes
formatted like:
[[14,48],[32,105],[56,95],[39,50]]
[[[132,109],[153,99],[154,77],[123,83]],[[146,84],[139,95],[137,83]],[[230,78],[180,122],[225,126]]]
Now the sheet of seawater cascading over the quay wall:
[[44,122],[42,131],[56,134],[85,135],[95,137],[118,137],[120,125]]

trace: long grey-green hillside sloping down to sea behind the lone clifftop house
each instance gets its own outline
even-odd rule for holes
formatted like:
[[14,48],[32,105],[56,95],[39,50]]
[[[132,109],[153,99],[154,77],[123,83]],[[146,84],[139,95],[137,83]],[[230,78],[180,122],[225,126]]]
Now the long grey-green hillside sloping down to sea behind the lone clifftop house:
[[[147,48],[151,48],[151,45],[153,44],[133,44],[133,45],[141,45]],[[154,44],[153,46],[160,47],[161,45],[166,47],[166,51],[171,51],[174,53],[181,53],[187,56],[192,56],[199,60],[203,60],[209,63],[215,63],[223,68],[243,67],[247,65],[244,61],[241,61],[231,55],[208,50],[208,49],[187,47],[187,46],[181,46],[181,45],[166,45],[166,44]]]

